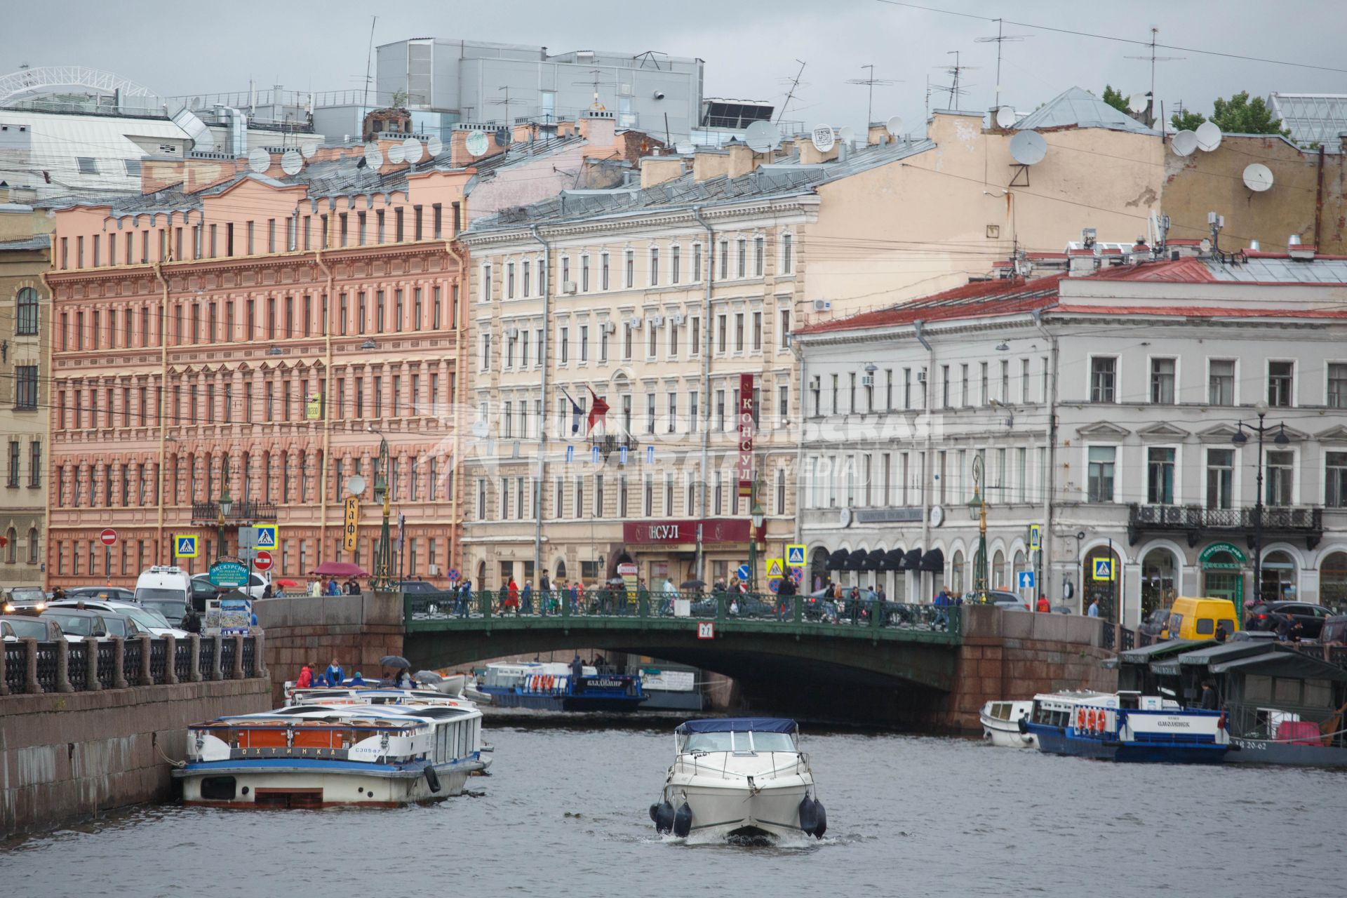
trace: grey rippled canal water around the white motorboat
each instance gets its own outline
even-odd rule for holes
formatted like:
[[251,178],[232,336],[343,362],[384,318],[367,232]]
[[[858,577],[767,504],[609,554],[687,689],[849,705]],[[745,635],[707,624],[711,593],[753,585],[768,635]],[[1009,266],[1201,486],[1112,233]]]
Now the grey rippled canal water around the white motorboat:
[[[567,724],[570,727],[570,724]],[[669,727],[493,727],[474,796],[143,808],[0,847],[4,895],[1335,895],[1347,773],[1111,765],[812,732],[822,843],[661,839]]]

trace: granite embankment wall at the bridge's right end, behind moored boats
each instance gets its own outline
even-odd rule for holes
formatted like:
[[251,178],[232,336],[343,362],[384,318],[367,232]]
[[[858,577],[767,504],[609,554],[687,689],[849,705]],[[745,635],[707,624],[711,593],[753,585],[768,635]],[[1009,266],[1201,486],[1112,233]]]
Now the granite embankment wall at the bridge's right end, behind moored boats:
[[944,728],[981,731],[978,711],[986,701],[1118,688],[1118,672],[1099,665],[1114,656],[1102,648],[1106,623],[1099,618],[986,606],[963,606],[962,613],[955,689],[936,720]]

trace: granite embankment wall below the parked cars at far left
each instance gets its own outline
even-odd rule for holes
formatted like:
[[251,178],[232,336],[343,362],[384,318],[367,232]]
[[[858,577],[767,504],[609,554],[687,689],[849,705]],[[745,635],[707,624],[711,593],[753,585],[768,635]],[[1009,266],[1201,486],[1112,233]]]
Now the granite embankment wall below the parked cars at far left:
[[264,677],[0,697],[0,831],[172,796],[187,727],[272,707]]

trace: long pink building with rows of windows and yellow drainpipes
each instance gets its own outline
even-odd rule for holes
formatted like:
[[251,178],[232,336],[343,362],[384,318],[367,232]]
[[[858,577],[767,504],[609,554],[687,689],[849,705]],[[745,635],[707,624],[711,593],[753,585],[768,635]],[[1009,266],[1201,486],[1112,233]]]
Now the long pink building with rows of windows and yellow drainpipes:
[[[57,211],[50,586],[129,584],[172,563],[175,534],[198,537],[180,563],[205,571],[226,487],[230,552],[237,525],[276,522],[275,574],[370,569],[380,435],[405,576],[446,583],[466,324],[454,238],[473,170],[450,148],[377,170],[361,158],[292,153],[291,175],[279,152],[264,174],[233,159],[147,166],[154,193]],[[345,552],[356,473],[366,487]]]

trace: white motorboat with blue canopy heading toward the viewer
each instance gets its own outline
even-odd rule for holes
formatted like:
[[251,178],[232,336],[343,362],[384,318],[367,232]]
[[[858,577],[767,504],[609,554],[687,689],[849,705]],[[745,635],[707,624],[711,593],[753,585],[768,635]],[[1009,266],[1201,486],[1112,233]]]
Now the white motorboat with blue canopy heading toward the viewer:
[[687,720],[674,731],[675,757],[651,820],[679,837],[822,839],[827,815],[795,720]]

